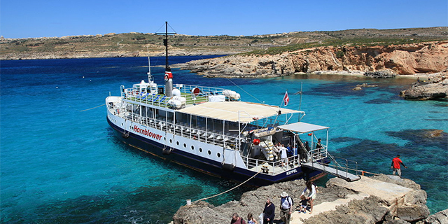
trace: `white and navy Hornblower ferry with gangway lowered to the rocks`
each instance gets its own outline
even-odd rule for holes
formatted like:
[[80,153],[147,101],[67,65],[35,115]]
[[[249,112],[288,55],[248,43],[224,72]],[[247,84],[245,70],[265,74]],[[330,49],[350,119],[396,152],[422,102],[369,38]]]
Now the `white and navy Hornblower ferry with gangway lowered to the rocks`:
[[[147,82],[121,85],[120,96],[106,98],[107,121],[121,141],[251,186],[314,180],[327,173],[347,181],[360,178],[328,153],[329,127],[300,121],[304,111],[244,102],[237,92],[219,87],[174,83],[166,58],[164,85],[153,81],[150,66]],[[316,145],[318,134],[325,141]],[[286,159],[279,144],[290,148]]]

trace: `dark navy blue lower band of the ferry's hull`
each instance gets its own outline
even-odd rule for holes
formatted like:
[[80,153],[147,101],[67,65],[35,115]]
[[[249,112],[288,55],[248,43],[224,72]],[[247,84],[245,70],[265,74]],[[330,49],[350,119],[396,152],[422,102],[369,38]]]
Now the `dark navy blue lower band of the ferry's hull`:
[[[163,144],[152,141],[151,139],[146,139],[137,134],[133,134],[130,132],[128,138],[123,137],[124,130],[117,125],[111,123],[109,118],[107,118],[107,122],[114,130],[114,133],[118,139],[125,142],[134,148],[138,148],[141,151],[146,153],[150,153],[151,155],[155,155],[164,160],[168,160],[170,162],[175,162],[179,165],[183,165],[185,167],[189,167],[190,169],[196,170],[198,172],[202,172],[205,174],[209,174],[211,176],[223,177],[225,179],[229,179],[231,181],[243,182],[249,179],[251,176],[255,174],[255,172],[241,169],[239,167],[235,167],[233,171],[223,169],[221,162],[216,162],[214,160],[209,160],[207,158],[202,158],[197,155],[193,155],[191,153],[187,153],[184,151],[174,149],[168,155],[164,155],[162,153],[162,149],[164,148]],[[169,147],[167,147],[169,148]],[[321,172],[316,172],[311,169],[307,169],[306,167],[297,167],[293,174],[286,175],[286,173],[279,174],[276,176],[267,175],[267,174],[258,174],[255,178],[248,181],[248,185],[251,186],[267,186],[272,183],[279,183],[282,181],[290,181],[295,179],[313,179],[314,176],[319,176]]]

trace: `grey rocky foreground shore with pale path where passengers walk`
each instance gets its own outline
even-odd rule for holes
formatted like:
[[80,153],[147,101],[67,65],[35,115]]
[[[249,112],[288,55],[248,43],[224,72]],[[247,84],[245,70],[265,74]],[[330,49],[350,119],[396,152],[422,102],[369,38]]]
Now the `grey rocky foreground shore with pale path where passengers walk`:
[[[285,191],[299,202],[304,189],[303,180],[276,183],[244,193],[241,200],[218,207],[201,201],[181,207],[173,216],[174,224],[228,223],[237,212],[246,220],[252,213],[262,212],[269,197],[276,205],[279,220],[279,195]],[[292,214],[291,224],[298,223],[448,223],[448,209],[431,215],[426,207],[426,192],[419,184],[408,179],[380,174],[360,181],[346,182],[330,179],[325,188],[318,188],[313,214]]]

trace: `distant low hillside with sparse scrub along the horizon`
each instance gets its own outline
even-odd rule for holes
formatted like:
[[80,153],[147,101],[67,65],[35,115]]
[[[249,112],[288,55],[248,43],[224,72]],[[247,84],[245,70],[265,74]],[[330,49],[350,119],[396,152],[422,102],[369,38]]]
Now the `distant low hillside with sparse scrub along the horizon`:
[[[195,54],[275,55],[281,52],[328,45],[391,45],[422,41],[447,40],[448,27],[410,29],[349,29],[343,31],[295,31],[254,36],[188,36],[169,37],[171,50]],[[0,58],[5,55],[117,55],[123,52],[163,52],[162,39],[156,34],[127,33],[96,36],[43,38],[0,38]],[[113,56],[111,56],[113,57]]]

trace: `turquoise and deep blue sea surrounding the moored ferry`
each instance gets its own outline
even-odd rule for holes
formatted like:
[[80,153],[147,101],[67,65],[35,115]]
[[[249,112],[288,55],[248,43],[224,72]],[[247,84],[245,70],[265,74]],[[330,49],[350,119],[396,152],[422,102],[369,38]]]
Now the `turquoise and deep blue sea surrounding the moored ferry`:
[[[169,62],[208,57],[217,56]],[[165,57],[151,57],[156,83],[163,83],[163,64]],[[1,223],[169,223],[186,200],[237,185],[154,158],[113,136],[104,99],[119,95],[120,85],[147,80],[146,57],[1,61],[0,69]],[[448,102],[400,98],[415,79],[228,79],[172,70],[174,83],[229,88],[249,102],[281,106],[288,92],[287,109],[305,111],[305,123],[330,127],[332,155],[355,160],[367,172],[391,174],[391,160],[400,154],[408,167],[402,177],[426,190],[431,214],[448,208]],[[377,87],[352,90],[361,83]],[[208,202],[239,200],[248,190]]]

